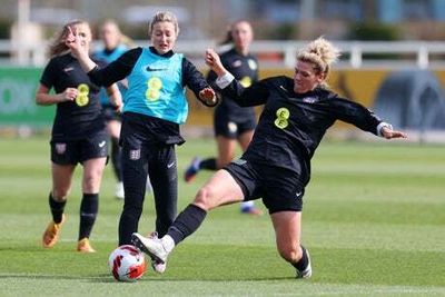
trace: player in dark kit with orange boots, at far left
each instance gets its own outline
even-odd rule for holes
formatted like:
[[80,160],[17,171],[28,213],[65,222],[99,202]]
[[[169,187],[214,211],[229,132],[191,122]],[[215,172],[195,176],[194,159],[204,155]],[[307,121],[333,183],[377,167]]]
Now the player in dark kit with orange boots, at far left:
[[[65,44],[68,33],[75,30],[79,47],[88,55],[91,30],[85,21],[67,23],[50,46],[51,60],[40,79],[36,102],[42,106],[57,105],[51,136],[52,190],[49,206],[52,221],[43,234],[43,247],[56,245],[71,188],[77,164],[83,166],[82,200],[80,205],[79,242],[77,249],[93,253],[89,237],[96,220],[99,189],[108,155],[108,136],[99,102],[100,88],[91,82],[79,61]],[[51,89],[56,93],[50,93]],[[107,89],[112,106],[120,109],[122,101],[119,89],[111,85]]]

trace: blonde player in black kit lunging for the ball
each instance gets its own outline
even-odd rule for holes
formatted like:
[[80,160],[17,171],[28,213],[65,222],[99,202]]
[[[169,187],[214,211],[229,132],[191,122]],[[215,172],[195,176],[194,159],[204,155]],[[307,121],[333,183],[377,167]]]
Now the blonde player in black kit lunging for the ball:
[[300,245],[301,206],[310,177],[310,159],[336,120],[386,139],[406,138],[359,103],[340,98],[326,86],[338,50],[324,38],[297,55],[294,79],[274,77],[244,88],[214,50],[207,65],[218,75],[222,93],[240,106],[265,105],[254,138],[243,157],[217,171],[179,214],[162,238],[132,235],[139,249],[166,263],[174,247],[198,229],[207,211],[243,200],[263,198],[275,229],[279,255],[309,278],[309,254]]

